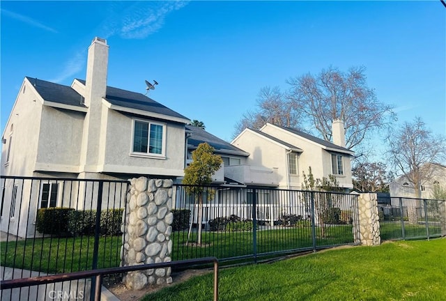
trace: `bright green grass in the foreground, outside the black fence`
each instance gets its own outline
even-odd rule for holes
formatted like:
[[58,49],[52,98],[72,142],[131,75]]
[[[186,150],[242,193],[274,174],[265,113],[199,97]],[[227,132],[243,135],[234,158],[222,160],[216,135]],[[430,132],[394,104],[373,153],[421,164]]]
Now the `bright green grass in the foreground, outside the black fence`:
[[[220,270],[219,300],[446,300],[446,239],[350,247]],[[212,273],[142,300],[212,300]]]

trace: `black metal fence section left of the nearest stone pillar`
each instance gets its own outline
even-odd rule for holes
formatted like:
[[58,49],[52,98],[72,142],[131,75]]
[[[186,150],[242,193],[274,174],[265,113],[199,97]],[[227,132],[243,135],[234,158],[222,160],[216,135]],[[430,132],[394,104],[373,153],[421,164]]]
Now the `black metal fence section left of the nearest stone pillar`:
[[119,266],[128,185],[1,176],[1,279]]

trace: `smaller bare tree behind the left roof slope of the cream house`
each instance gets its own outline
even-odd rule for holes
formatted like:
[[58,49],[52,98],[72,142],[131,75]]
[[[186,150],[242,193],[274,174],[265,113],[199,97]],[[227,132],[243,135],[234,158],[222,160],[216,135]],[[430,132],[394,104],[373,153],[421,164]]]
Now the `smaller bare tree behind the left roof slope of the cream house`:
[[300,125],[298,111],[293,109],[293,102],[277,86],[274,88],[266,86],[260,89],[256,100],[256,110],[243,114],[243,118],[236,123],[233,137],[245,128],[258,130],[267,122],[289,128],[299,128]]

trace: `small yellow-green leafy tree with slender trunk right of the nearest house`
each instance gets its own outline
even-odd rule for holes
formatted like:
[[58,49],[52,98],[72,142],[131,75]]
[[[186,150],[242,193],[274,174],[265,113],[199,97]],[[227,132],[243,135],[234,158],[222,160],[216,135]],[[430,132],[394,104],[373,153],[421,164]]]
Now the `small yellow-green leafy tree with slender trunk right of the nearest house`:
[[[192,152],[192,163],[184,170],[183,184],[191,185],[185,188],[186,192],[190,196],[193,196],[194,206],[196,203],[198,203],[198,217],[197,217],[198,245],[201,245],[201,219],[203,216],[203,195],[207,194],[208,200],[213,198],[213,194],[208,192],[206,185],[210,185],[210,183],[212,183],[213,173],[215,173],[215,171],[220,169],[220,166],[222,164],[223,164],[222,157],[220,157],[219,155],[214,155],[214,148],[207,143],[202,143],[199,144],[197,149]],[[189,242],[189,236],[190,236],[190,230],[187,236],[187,242]]]

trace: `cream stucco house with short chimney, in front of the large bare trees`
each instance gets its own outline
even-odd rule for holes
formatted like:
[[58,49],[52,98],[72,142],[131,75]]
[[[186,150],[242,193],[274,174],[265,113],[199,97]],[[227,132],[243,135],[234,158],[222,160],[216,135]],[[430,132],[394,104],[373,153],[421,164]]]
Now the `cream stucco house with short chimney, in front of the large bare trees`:
[[[334,143],[310,134],[267,123],[260,130],[245,129],[231,144],[249,153],[251,167],[272,169],[277,175],[277,187],[302,190],[303,176],[312,168],[314,178],[333,175],[346,192],[353,188],[351,157],[345,147],[344,123],[333,122]],[[246,173],[233,171],[235,180],[247,178]]]

